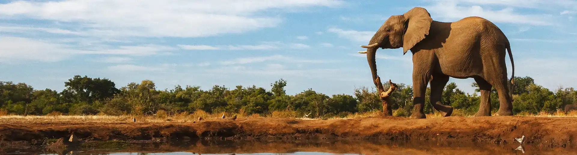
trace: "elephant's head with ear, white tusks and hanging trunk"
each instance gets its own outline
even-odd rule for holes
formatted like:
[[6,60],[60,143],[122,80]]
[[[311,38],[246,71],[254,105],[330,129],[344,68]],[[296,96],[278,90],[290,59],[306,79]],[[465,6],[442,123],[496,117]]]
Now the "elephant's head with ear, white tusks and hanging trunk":
[[[366,54],[369,62],[370,71],[373,74],[373,81],[377,78],[376,63],[374,60],[377,48],[400,48],[403,47],[403,55],[425,35],[429,35],[429,27],[433,19],[429,12],[422,7],[414,7],[402,15],[391,16],[384,22],[379,30],[374,33],[370,39],[366,51],[360,51]],[[376,84],[375,84],[376,85]]]

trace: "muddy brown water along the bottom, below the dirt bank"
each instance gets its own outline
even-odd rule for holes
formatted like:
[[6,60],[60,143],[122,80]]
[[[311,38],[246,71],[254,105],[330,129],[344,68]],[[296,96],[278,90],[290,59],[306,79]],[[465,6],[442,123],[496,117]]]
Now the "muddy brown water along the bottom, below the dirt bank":
[[[174,141],[129,143],[121,148],[42,147],[3,149],[0,154],[577,154],[576,148],[519,143],[434,141]],[[108,146],[110,147],[110,146]]]

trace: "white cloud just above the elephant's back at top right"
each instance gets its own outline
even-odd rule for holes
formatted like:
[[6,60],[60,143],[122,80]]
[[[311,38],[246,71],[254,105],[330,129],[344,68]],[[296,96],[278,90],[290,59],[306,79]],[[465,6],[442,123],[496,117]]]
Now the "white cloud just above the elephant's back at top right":
[[[492,1],[493,3],[496,3]],[[513,7],[501,10],[488,9],[479,5],[463,6],[459,1],[436,1],[432,6],[425,6],[433,18],[444,21],[456,21],[464,17],[478,16],[492,22],[509,24],[552,25],[550,15],[516,13]]]

